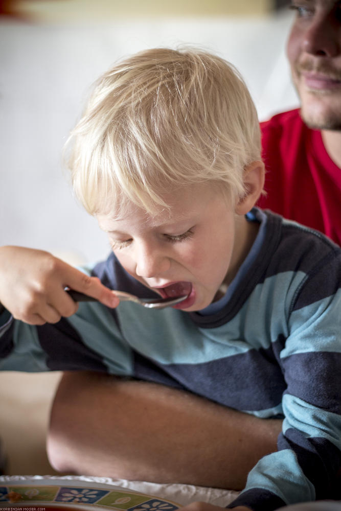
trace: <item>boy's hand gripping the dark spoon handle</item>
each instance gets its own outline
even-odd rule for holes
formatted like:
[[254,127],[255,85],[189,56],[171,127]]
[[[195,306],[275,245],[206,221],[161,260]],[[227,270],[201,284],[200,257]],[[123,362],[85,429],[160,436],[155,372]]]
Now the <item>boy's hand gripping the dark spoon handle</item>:
[[0,303],[16,319],[30,324],[56,323],[78,309],[65,287],[116,307],[119,299],[97,277],[77,270],[49,252],[0,247]]

